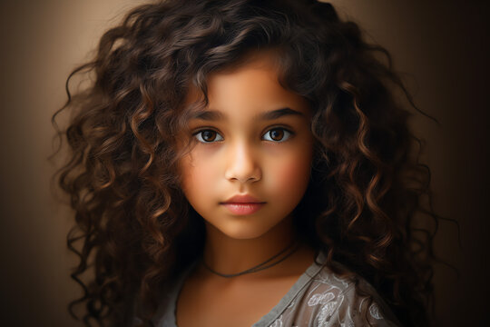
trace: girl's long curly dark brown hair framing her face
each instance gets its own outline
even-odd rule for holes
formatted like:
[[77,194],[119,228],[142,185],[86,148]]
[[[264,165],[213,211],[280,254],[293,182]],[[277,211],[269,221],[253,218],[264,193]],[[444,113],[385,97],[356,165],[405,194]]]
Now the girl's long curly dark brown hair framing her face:
[[[73,316],[82,307],[86,325],[123,326],[134,317],[151,324],[163,282],[201,254],[204,240],[180,188],[175,139],[186,128],[184,99],[191,85],[206,99],[209,74],[269,49],[279,82],[314,113],[299,232],[332,269],[343,263],[373,284],[400,322],[429,323],[433,253],[424,226],[437,216],[411,114],[393,94],[401,90],[417,107],[386,50],[365,42],[331,5],[307,0],[141,5],[69,76],[68,101],[53,120],[71,114],[58,130],[69,159],[57,181],[75,212],[68,247],[80,258],[72,277],[83,296],[71,303]],[[89,85],[70,91],[80,75]]]

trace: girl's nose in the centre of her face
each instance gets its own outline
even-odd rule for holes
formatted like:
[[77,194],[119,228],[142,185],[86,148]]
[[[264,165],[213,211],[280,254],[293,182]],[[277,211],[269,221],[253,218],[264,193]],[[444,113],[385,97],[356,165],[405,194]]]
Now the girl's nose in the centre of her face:
[[260,164],[252,146],[246,142],[234,144],[228,151],[225,178],[240,183],[258,182],[262,178]]

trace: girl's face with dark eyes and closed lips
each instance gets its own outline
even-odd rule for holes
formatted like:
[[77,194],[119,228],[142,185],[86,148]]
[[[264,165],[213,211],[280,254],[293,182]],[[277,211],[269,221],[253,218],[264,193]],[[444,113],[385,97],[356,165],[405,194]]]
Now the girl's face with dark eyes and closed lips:
[[182,189],[194,210],[234,239],[269,232],[309,183],[309,105],[282,88],[273,59],[260,54],[211,74],[209,106],[190,121],[196,145],[181,161]]

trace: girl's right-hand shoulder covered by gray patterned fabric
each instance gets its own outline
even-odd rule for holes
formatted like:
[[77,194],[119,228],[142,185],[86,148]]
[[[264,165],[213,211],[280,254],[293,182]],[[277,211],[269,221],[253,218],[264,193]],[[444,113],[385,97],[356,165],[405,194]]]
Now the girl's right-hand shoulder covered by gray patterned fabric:
[[311,276],[308,287],[296,303],[295,320],[308,321],[312,326],[399,325],[368,282],[357,275],[341,277],[327,266]]

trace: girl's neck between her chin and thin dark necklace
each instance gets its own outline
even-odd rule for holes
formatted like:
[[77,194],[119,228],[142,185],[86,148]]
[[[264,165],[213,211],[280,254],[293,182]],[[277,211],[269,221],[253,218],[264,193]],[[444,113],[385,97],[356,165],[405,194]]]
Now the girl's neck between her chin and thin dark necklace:
[[206,223],[204,261],[216,272],[237,273],[263,263],[296,239],[292,217],[253,239],[235,239]]

